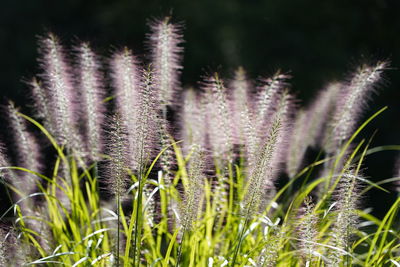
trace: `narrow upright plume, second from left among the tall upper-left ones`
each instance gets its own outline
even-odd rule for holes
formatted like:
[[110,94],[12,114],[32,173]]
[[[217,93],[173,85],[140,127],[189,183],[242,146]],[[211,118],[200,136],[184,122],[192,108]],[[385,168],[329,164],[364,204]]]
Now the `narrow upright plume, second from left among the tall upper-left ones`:
[[81,109],[85,120],[85,140],[90,160],[99,160],[102,144],[104,88],[100,64],[88,43],[77,48]]

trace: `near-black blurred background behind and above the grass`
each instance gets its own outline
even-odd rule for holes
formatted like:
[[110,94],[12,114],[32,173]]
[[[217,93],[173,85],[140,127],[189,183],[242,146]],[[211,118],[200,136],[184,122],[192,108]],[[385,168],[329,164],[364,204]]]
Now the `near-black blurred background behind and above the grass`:
[[[148,20],[172,14],[185,25],[184,85],[196,85],[210,70],[229,77],[242,65],[257,78],[279,68],[293,75],[293,90],[306,104],[358,64],[390,59],[387,82],[365,116],[389,110],[364,136],[378,129],[373,146],[399,144],[399,12],[398,0],[1,0],[1,101],[26,104],[21,80],[39,71],[37,35],[52,31],[66,45],[88,40],[105,56],[124,45],[142,54]],[[392,177],[396,155],[371,155],[365,174],[374,181]],[[365,201],[380,210],[391,198],[374,191]]]

